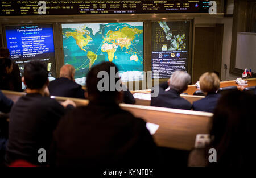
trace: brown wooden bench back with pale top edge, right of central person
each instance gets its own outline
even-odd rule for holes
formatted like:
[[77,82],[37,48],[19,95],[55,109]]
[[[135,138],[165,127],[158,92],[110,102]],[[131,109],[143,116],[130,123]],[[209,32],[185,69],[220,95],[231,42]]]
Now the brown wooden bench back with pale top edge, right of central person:
[[158,146],[191,150],[197,134],[208,134],[212,113],[164,107],[120,104],[146,122],[159,125],[154,134]]

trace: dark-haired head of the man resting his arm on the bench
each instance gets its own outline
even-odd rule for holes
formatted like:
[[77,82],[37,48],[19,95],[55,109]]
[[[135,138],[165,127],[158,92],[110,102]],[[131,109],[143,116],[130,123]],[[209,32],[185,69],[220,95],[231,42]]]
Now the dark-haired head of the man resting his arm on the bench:
[[24,84],[27,85],[28,89],[44,89],[49,82],[46,65],[39,60],[27,63],[24,67],[24,76],[22,80]]

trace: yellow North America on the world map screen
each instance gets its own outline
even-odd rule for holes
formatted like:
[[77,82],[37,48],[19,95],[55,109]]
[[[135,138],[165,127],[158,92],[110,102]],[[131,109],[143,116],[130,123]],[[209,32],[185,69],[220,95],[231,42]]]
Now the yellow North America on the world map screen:
[[[83,36],[84,34],[86,34],[86,38]],[[65,35],[67,36],[67,38],[69,36],[72,36],[76,40],[76,44],[79,46],[79,48],[87,52],[84,49],[84,47],[86,47],[86,45],[90,42],[90,40],[92,40],[92,38],[88,34],[89,34],[89,31],[83,30],[83,31],[74,31],[74,32],[68,31],[66,32]]]

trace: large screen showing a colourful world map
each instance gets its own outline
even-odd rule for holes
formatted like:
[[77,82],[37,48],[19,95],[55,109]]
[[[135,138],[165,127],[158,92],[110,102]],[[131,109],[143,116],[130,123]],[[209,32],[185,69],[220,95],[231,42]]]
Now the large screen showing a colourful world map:
[[62,24],[64,63],[85,85],[93,65],[112,61],[123,82],[143,80],[143,22]]

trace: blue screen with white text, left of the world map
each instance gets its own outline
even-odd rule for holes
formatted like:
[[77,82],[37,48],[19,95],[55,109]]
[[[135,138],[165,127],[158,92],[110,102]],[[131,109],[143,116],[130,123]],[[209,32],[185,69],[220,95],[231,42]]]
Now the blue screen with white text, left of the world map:
[[19,65],[21,73],[26,63],[31,60],[41,60],[47,65],[50,80],[51,77],[56,78],[51,24],[6,26],[5,32],[10,59]]

